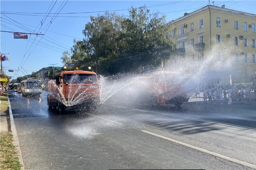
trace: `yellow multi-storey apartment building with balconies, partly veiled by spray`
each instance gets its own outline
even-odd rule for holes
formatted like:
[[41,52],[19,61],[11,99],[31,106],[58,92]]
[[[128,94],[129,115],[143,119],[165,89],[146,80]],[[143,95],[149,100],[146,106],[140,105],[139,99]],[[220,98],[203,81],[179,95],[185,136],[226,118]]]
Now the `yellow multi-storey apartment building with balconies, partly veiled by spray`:
[[210,83],[255,80],[256,14],[208,5],[167,25],[175,50],[165,68],[185,69]]

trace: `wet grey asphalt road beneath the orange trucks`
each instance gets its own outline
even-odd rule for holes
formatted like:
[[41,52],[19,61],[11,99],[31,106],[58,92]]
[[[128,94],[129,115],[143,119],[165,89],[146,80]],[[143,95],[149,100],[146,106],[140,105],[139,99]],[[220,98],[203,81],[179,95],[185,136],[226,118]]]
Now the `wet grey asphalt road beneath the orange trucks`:
[[116,95],[97,110],[60,115],[48,110],[46,96],[9,91],[25,170],[256,167],[255,101],[228,106],[191,99],[182,110],[149,109]]

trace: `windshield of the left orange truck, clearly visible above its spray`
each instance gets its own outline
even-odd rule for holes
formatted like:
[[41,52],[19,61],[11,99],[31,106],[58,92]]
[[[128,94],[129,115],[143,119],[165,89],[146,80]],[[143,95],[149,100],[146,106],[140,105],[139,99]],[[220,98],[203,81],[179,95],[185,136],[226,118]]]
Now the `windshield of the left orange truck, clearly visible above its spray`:
[[97,82],[93,74],[67,74],[63,76],[64,83],[68,84],[93,84]]

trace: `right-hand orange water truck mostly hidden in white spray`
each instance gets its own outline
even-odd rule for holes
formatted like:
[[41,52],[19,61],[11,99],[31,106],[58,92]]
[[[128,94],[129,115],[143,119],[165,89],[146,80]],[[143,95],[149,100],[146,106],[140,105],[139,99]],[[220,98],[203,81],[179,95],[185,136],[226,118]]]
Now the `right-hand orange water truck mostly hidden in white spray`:
[[184,88],[184,78],[174,71],[156,71],[149,76],[132,78],[129,89],[140,94],[141,102],[150,105],[170,105],[180,107],[188,102],[189,93]]

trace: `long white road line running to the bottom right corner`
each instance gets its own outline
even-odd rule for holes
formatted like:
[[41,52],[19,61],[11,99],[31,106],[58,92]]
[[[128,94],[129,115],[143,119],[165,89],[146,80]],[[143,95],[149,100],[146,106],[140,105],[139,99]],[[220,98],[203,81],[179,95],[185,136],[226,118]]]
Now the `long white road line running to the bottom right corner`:
[[232,162],[235,162],[235,163],[238,163],[238,164],[241,164],[241,165],[245,165],[247,167],[250,167],[250,168],[255,168],[256,169],[256,165],[254,164],[250,164],[250,163],[247,163],[247,162],[244,162],[244,161],[239,161],[237,159],[234,159],[234,158],[230,158],[228,156],[224,156],[224,155],[221,155],[219,153],[214,153],[214,152],[211,152],[211,151],[208,151],[206,149],[202,149],[202,148],[199,148],[199,147],[196,147],[196,146],[193,146],[193,145],[190,145],[190,144],[185,144],[183,142],[180,142],[180,141],[176,141],[174,139],[171,139],[171,138],[168,138],[168,137],[165,137],[165,136],[161,136],[161,135],[157,135],[157,134],[154,134],[152,132],[148,132],[146,130],[141,130],[142,132],[145,132],[147,134],[150,134],[150,135],[153,135],[153,136],[156,136],[156,137],[160,137],[162,139],[165,139],[165,140],[168,140],[168,141],[171,141],[171,142],[174,142],[176,144],[181,144],[183,146],[187,146],[187,147],[190,147],[192,149],[195,149],[195,150],[198,150],[198,151],[201,151],[201,152],[204,152],[204,153],[208,153],[208,154],[211,154],[213,156],[217,156],[219,158],[222,158],[222,159],[225,159],[225,160],[228,160],[228,161],[232,161]]

